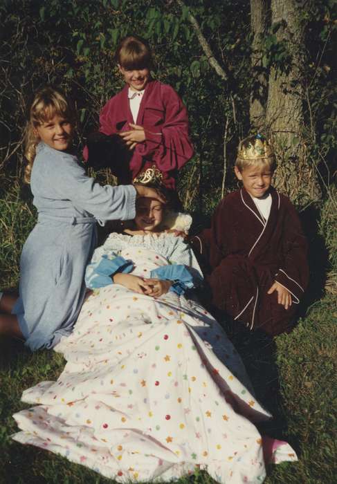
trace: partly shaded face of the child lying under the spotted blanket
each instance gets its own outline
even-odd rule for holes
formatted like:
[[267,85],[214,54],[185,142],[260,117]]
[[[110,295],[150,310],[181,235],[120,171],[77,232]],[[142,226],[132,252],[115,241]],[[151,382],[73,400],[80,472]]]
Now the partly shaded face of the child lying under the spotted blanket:
[[163,203],[156,198],[138,198],[134,219],[138,230],[156,232],[158,225],[163,220],[163,211]]

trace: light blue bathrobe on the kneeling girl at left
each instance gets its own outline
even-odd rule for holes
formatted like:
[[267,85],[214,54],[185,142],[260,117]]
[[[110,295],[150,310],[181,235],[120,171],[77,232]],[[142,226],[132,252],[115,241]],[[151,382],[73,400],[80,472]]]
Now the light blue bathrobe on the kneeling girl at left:
[[30,186],[38,220],[21,254],[17,315],[26,345],[52,348],[68,335],[84,299],[84,271],[96,243],[95,221],[135,217],[134,187],[100,186],[75,156],[37,146]]

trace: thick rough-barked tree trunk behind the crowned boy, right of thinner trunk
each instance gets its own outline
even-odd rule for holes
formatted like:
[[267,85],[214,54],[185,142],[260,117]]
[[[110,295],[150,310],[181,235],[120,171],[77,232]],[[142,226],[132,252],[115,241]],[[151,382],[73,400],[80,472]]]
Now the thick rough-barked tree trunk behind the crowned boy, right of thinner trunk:
[[278,24],[278,42],[291,55],[286,68],[271,68],[268,79],[266,127],[277,154],[275,186],[304,206],[320,198],[316,168],[308,162],[303,139],[302,72],[305,62],[304,0],[271,0],[271,24]]

